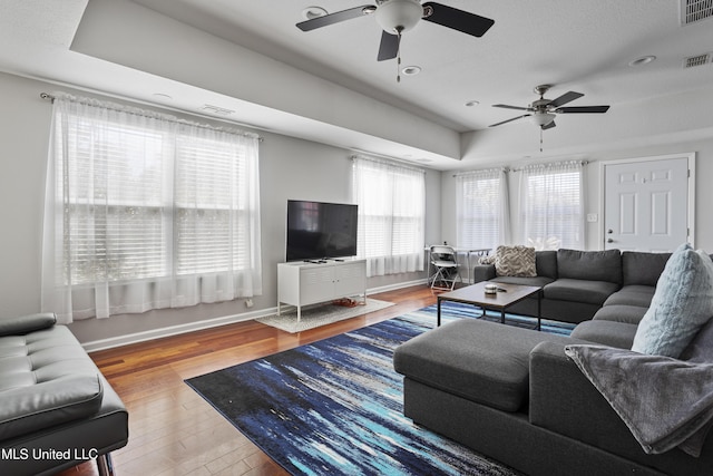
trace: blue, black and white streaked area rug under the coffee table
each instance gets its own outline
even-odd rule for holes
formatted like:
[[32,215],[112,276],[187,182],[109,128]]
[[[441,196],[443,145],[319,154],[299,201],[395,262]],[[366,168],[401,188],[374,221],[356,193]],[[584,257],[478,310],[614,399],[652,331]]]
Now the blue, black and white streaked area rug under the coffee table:
[[293,475],[518,474],[403,416],[393,350],[434,323],[424,308],[186,382]]

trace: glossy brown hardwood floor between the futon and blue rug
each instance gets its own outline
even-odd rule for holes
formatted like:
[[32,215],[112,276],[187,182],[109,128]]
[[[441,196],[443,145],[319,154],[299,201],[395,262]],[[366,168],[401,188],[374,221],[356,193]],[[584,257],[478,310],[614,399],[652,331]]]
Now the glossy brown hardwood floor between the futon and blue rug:
[[[184,379],[400,315],[436,302],[426,285],[373,294],[387,309],[291,334],[255,321],[94,352],[129,410],[129,443],[113,453],[117,476],[286,475]],[[61,475],[96,475],[85,463]]]

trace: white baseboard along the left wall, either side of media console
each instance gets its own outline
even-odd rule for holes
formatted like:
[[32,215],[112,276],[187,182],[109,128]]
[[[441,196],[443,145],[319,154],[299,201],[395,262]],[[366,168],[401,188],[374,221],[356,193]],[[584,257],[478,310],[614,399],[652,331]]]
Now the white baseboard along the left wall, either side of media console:
[[[384,286],[373,288],[367,290],[367,294],[377,294],[380,292],[394,291],[397,289],[409,288],[412,285],[423,284],[423,280],[416,280],[409,282],[401,282],[395,284],[388,284]],[[195,332],[203,329],[216,328],[219,326],[232,324],[235,322],[250,321],[253,319],[264,318],[265,315],[272,315],[277,312],[277,308],[261,309],[257,311],[243,312],[240,314],[224,315],[215,319],[207,319],[205,321],[191,322],[179,326],[170,326],[167,328],[154,329],[150,331],[136,332],[125,336],[113,337],[108,339],[94,340],[81,344],[87,352],[97,352],[99,350],[113,349],[116,347],[128,346],[130,343],[146,342],[148,340],[160,339],[164,337],[178,336],[188,332]]]

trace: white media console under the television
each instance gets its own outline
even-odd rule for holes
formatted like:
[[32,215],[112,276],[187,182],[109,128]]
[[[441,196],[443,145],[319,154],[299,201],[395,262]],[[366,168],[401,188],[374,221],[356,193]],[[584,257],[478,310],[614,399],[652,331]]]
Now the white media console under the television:
[[321,260],[277,264],[277,315],[282,304],[297,308],[361,294],[367,301],[367,260]]

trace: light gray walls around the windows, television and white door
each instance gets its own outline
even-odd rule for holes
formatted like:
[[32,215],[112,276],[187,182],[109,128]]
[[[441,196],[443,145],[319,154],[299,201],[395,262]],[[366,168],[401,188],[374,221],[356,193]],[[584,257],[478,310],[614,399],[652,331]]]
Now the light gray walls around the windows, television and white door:
[[[40,99],[41,91],[67,88],[42,81],[0,74],[0,318],[38,312],[40,309],[40,260],[45,166],[51,106]],[[244,300],[204,304],[145,314],[118,315],[105,320],[86,320],[71,324],[82,342],[95,348],[120,343],[124,336],[143,333],[150,338],[159,332],[179,332],[222,319],[251,319],[276,305],[276,264],[284,261],[285,205],[287,198],[348,202],[350,200],[351,153],[346,149],[260,132],[261,202],[263,236],[264,294],[248,309]],[[587,159],[587,213],[598,213],[599,176],[597,162],[673,153],[696,153],[696,235],[699,247],[713,250],[713,221],[705,205],[713,203],[713,137],[705,140],[678,140],[648,147],[609,152],[580,150],[577,158]],[[541,159],[547,157],[543,156]],[[561,157],[553,157],[558,159]],[[510,165],[515,163],[492,164]],[[475,168],[475,167],[471,167]],[[453,172],[429,171],[427,174],[427,243],[456,242]],[[512,181],[516,174],[512,174]],[[515,183],[511,191],[515,191]],[[516,200],[514,196],[511,200]],[[597,249],[599,223],[587,225],[587,247]],[[424,273],[372,278],[371,290],[399,286],[423,280]],[[130,341],[136,336],[127,338]]]

